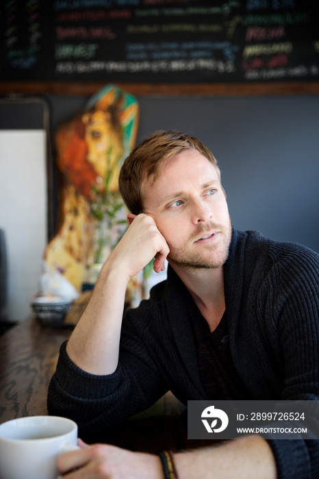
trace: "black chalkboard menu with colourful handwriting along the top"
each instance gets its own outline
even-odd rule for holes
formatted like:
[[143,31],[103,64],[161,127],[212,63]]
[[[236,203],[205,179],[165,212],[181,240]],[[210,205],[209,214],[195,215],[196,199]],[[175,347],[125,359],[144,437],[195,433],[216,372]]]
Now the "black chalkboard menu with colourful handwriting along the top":
[[1,81],[319,79],[312,0],[1,3]]

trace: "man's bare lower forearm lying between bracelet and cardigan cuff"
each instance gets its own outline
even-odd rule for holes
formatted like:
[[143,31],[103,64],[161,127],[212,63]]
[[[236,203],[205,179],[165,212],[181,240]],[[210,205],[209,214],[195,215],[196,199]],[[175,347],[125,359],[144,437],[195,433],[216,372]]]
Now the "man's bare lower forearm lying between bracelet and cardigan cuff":
[[276,479],[272,450],[260,436],[175,454],[179,479]]

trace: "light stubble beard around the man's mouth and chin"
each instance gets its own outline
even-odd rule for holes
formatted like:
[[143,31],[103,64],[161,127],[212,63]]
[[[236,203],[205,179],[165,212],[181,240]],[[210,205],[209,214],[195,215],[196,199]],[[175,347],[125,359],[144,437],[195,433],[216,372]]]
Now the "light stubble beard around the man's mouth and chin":
[[211,270],[222,266],[229,254],[229,244],[231,242],[230,218],[227,225],[210,222],[205,226],[199,226],[196,233],[188,240],[188,244],[194,243],[201,235],[204,236],[207,231],[212,231],[212,229],[220,231],[220,239],[218,239],[217,244],[206,244],[203,245],[203,250],[201,251],[188,252],[183,250],[183,248],[168,243],[170,248],[170,253],[167,257],[168,261],[184,270]]

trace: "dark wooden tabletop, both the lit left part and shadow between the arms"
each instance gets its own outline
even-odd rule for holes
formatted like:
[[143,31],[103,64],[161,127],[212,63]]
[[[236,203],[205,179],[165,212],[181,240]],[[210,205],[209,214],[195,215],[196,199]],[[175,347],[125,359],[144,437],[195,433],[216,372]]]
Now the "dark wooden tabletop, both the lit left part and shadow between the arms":
[[[27,318],[0,336],[0,424],[16,417],[47,415],[49,381],[60,346],[71,332],[72,328],[49,328]],[[103,441],[145,452],[216,442],[187,439],[186,407],[171,393],[146,412],[105,432]]]

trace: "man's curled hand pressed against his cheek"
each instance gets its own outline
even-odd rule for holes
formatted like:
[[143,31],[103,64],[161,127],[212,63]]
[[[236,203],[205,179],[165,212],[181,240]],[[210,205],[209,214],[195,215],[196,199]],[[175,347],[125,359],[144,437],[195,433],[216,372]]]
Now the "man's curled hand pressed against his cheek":
[[141,213],[138,216],[129,214],[127,219],[130,226],[107,259],[107,264],[125,272],[128,279],[136,276],[153,258],[155,272],[164,271],[170,250],[153,218]]

